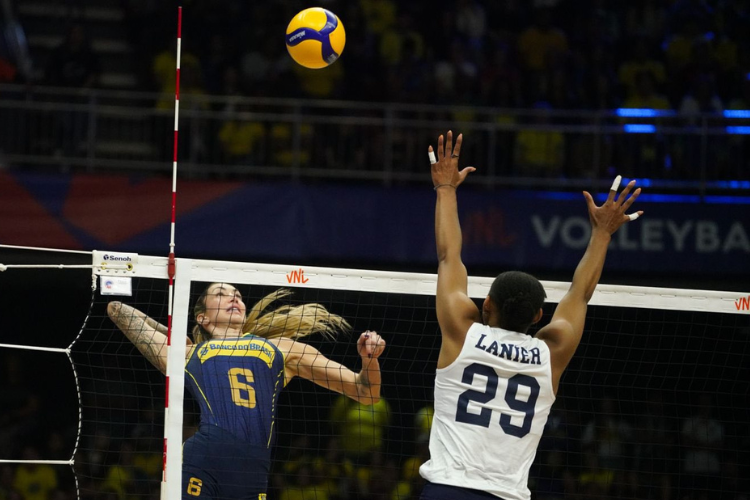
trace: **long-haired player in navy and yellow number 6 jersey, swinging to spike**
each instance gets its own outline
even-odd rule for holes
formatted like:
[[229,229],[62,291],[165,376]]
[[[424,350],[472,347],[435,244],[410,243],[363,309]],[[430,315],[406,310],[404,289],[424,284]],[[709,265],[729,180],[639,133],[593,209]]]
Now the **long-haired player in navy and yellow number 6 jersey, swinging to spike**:
[[[201,408],[200,428],[185,442],[182,498],[265,500],[279,391],[293,377],[371,405],[380,399],[378,357],[385,341],[364,332],[357,341],[362,370],[354,373],[299,342],[312,333],[349,329],[320,304],[282,306],[277,290],[249,312],[237,289],[213,283],[194,307],[195,344],[186,346],[185,377]],[[131,306],[111,302],[107,312],[138,350],[166,373],[166,328]]]

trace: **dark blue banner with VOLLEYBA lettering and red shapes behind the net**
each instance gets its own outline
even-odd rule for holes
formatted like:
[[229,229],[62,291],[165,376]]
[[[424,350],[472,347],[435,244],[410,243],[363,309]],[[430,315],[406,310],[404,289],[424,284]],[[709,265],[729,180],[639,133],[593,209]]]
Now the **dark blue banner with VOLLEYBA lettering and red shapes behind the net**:
[[[601,203],[606,193],[598,195]],[[467,265],[572,270],[589,238],[580,193],[458,192]],[[176,253],[241,261],[435,263],[423,188],[180,181]],[[644,194],[607,268],[750,275],[750,200]],[[162,255],[171,180],[0,173],[0,242]]]

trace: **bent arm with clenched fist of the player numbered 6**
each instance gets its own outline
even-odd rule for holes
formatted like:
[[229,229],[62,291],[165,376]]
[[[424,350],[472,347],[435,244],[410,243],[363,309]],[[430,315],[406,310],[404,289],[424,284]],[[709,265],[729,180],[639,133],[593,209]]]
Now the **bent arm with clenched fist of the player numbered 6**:
[[287,380],[299,376],[344,394],[365,405],[380,401],[380,362],[385,340],[375,332],[364,332],[357,341],[362,369],[354,373],[346,366],[325,357],[314,347],[289,339],[274,339],[285,355]]

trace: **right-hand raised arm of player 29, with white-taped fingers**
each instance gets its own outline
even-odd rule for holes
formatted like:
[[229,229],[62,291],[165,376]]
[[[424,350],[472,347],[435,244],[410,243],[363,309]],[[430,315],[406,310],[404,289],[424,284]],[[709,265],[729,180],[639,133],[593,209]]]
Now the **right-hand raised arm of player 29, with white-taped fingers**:
[[638,188],[628,198],[630,190],[635,186],[635,181],[630,181],[615,200],[619,184],[620,176],[618,175],[612,184],[607,201],[601,207],[597,207],[591,195],[584,191],[583,196],[586,198],[591,220],[589,245],[576,267],[570,289],[560,300],[552,320],[536,335],[550,348],[555,392],[557,392],[562,373],[581,342],[588,303],[599,283],[612,234],[626,222],[635,220],[643,214],[642,211],[630,216],[625,214],[641,193],[641,189]]

